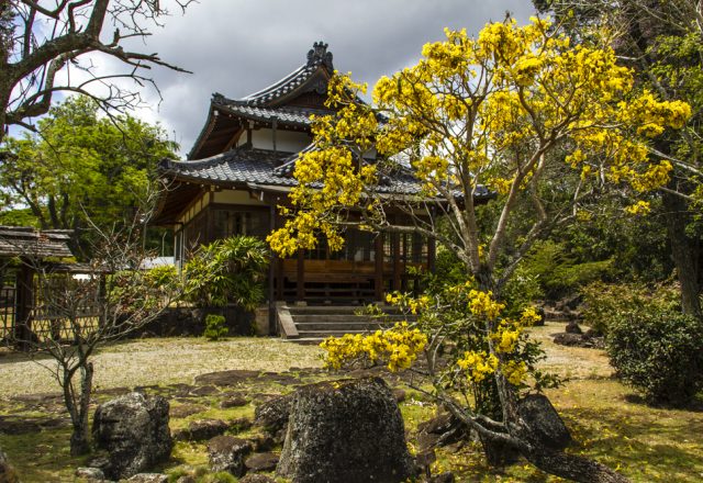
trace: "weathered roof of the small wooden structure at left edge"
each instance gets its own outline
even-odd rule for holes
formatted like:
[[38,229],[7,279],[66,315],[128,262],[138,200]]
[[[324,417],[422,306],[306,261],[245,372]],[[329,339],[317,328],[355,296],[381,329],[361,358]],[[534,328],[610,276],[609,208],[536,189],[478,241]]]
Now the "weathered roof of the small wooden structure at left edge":
[[72,257],[68,248],[70,231],[0,226],[0,257]]

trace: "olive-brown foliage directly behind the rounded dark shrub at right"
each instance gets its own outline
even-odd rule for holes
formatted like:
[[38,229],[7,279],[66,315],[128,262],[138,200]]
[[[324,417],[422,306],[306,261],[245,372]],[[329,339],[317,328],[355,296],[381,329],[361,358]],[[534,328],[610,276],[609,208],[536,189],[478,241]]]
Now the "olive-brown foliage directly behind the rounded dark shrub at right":
[[643,283],[593,282],[581,289],[583,322],[600,334],[607,335],[613,321],[623,314],[646,311],[679,311],[678,291],[671,285],[647,289]]

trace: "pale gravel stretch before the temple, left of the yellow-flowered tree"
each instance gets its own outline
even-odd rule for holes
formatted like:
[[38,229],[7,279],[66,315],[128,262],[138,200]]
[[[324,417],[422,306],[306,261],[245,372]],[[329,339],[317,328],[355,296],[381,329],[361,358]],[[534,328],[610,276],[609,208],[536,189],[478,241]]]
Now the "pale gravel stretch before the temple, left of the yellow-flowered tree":
[[[197,338],[131,340],[103,348],[93,358],[96,389],[192,383],[196,375],[228,369],[281,372],[322,366],[316,346],[276,338],[235,338],[210,342]],[[18,394],[55,393],[56,379],[38,362],[14,352],[0,352],[0,398]]]

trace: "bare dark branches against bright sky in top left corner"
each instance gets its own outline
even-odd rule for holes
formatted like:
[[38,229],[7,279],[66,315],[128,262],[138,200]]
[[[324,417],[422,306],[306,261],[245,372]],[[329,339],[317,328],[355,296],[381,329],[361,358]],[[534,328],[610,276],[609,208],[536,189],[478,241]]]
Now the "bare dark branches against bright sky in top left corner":
[[[181,11],[193,0],[170,0]],[[144,40],[168,10],[159,0],[2,0],[0,1],[0,142],[8,126],[31,128],[45,114],[55,92],[90,96],[107,111],[142,103],[153,66],[186,71],[158,54],[132,52],[125,41]],[[112,31],[111,33],[109,31]],[[134,42],[130,42],[134,44]],[[123,64],[108,72],[94,64],[102,54]],[[124,80],[133,82],[125,88]]]

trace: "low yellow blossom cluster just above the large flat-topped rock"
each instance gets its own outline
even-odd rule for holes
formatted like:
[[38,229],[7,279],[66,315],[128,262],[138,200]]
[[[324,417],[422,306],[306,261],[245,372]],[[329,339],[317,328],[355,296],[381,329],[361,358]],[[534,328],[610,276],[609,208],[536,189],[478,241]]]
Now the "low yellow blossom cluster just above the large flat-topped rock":
[[410,368],[426,345],[426,335],[402,322],[391,329],[377,330],[368,336],[346,334],[339,338],[330,337],[320,347],[327,351],[326,368],[341,369],[367,358],[372,363],[387,362],[391,371],[398,371]]

